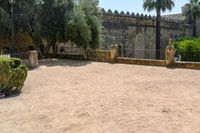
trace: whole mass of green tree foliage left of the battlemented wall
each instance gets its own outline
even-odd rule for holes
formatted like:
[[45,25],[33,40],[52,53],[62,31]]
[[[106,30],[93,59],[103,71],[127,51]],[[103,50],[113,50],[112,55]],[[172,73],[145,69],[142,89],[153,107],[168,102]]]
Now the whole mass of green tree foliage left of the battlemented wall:
[[[0,32],[10,33],[10,5],[0,0]],[[75,42],[84,49],[98,48],[101,42],[101,13],[98,0],[20,0],[14,6],[15,32],[27,32],[39,55],[42,39],[45,52],[57,42]]]

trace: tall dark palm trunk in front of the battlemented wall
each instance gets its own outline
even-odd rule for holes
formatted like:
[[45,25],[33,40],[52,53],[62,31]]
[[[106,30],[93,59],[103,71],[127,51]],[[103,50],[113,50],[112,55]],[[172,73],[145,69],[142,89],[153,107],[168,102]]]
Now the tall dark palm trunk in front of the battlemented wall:
[[156,59],[160,59],[160,21],[161,21],[161,12],[157,10],[156,17]]

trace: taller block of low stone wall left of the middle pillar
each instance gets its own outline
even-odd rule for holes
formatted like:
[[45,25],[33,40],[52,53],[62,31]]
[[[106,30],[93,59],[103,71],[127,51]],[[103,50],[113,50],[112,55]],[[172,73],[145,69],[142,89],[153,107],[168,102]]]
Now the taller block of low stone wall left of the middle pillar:
[[110,62],[110,51],[108,50],[88,50],[89,61]]

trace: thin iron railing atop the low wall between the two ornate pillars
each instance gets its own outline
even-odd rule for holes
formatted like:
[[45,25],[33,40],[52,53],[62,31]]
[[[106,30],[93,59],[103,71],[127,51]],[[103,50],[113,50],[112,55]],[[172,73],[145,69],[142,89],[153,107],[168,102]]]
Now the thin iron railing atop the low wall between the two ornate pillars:
[[[156,53],[159,53],[159,57],[156,58]],[[119,51],[119,57],[136,58],[136,59],[153,59],[164,60],[165,50],[153,50],[153,49],[133,49]]]

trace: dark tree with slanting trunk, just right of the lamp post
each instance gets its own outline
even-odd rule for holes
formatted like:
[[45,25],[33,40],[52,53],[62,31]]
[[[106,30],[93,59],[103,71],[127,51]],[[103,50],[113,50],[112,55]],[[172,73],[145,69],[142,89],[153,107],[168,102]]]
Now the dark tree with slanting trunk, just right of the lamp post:
[[20,0],[16,3],[16,26],[21,32],[27,32],[32,38],[33,44],[43,57],[43,44],[39,23],[42,0]]

